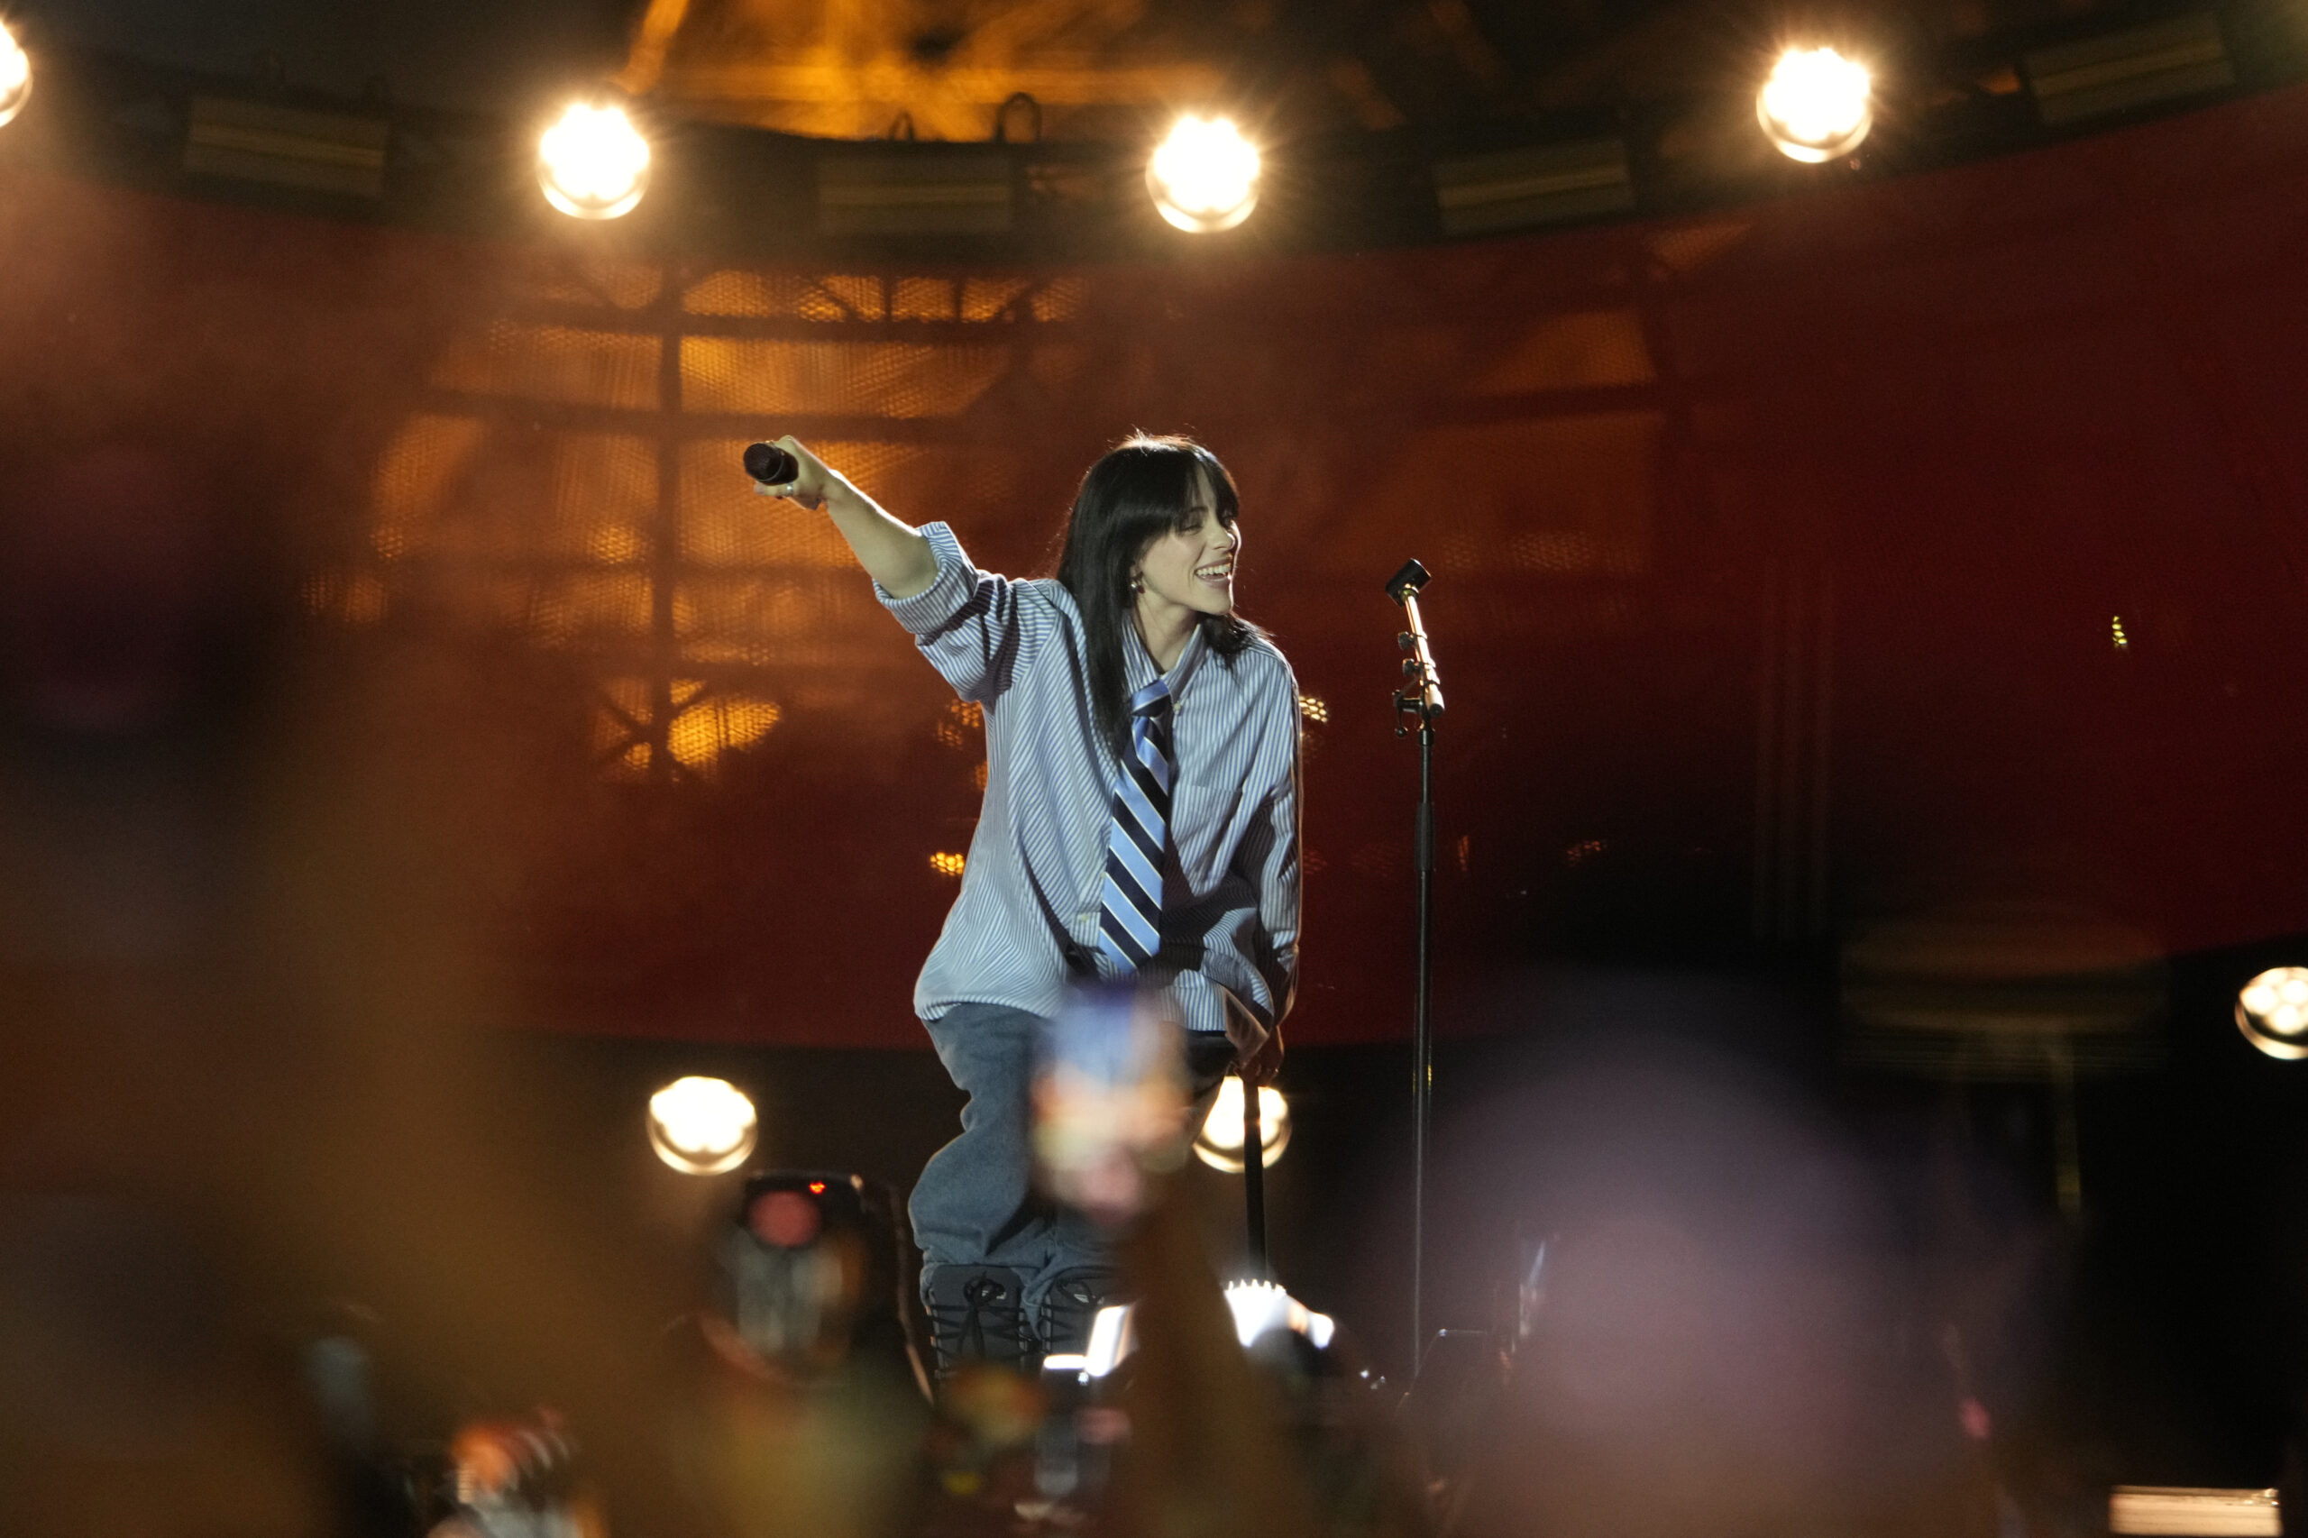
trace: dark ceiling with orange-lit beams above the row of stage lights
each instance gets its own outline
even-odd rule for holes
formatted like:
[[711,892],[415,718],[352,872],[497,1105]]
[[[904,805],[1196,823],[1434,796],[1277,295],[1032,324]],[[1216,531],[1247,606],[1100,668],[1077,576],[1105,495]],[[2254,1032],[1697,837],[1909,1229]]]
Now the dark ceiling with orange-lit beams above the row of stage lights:
[[[879,136],[988,139],[1027,92],[1052,139],[1142,132],[1219,104],[1272,134],[1459,132],[1745,90],[1789,32],[1826,32],[1890,67],[1992,58],[1999,39],[2121,0],[51,0],[53,37],[150,62],[517,115],[621,72],[690,118]],[[1989,65],[1992,72],[1992,65]],[[1989,81],[1992,88],[1992,81]]]

